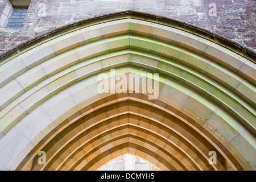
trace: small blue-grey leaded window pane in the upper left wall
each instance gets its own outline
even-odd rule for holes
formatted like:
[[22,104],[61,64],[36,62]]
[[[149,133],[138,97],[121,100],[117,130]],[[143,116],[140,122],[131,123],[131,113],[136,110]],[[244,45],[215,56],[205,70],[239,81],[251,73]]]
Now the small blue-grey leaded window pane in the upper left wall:
[[6,28],[20,28],[27,13],[27,8],[14,7],[6,24]]

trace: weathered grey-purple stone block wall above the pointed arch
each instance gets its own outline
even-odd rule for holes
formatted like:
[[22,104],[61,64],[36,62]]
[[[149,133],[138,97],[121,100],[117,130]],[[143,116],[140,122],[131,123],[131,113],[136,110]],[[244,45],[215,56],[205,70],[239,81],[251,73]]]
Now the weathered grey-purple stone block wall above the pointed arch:
[[[0,0],[1,13],[7,4]],[[0,55],[65,24],[127,10],[181,20],[256,50],[255,0],[32,0],[20,29],[0,28]]]

